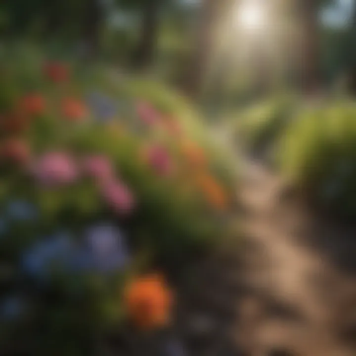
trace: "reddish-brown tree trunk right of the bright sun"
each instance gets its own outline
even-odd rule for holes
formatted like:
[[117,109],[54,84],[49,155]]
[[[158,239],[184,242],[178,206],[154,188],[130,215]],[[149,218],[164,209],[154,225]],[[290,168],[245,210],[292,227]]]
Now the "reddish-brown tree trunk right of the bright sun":
[[307,94],[319,89],[318,0],[302,0],[301,85]]

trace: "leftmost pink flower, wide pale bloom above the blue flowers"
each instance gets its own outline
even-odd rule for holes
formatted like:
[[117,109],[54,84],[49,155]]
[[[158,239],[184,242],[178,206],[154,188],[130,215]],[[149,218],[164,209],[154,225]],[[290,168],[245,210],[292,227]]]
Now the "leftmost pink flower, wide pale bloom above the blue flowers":
[[34,174],[44,184],[68,184],[78,178],[73,159],[62,152],[49,152],[35,164]]

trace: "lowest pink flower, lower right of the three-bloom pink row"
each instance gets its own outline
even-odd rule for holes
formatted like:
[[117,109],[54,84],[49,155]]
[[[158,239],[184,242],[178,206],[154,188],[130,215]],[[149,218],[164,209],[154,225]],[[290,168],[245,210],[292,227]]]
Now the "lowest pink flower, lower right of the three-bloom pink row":
[[102,186],[102,194],[109,206],[117,213],[129,214],[134,209],[134,195],[128,186],[120,181],[107,181]]

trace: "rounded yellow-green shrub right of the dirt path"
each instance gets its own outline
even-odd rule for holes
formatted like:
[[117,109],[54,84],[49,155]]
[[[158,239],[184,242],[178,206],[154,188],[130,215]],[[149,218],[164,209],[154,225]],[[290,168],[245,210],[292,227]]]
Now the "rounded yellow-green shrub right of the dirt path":
[[348,216],[356,214],[355,117],[352,103],[309,109],[279,144],[284,174],[315,202]]

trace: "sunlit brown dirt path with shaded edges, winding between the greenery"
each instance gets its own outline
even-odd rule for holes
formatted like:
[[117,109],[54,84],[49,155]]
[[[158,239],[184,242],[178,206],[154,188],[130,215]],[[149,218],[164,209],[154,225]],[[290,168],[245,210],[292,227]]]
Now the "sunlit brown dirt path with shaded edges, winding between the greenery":
[[312,218],[260,164],[242,172],[242,241],[227,242],[183,288],[188,350],[355,356],[356,230]]

